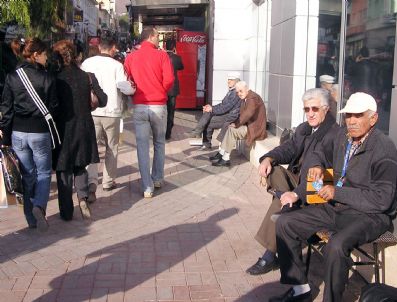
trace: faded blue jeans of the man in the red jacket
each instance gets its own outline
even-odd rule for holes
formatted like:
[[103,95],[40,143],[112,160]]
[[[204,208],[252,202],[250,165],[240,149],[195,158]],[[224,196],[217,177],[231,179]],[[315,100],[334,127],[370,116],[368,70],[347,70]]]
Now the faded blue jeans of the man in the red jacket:
[[[167,126],[166,105],[135,105],[133,111],[136,150],[142,190],[153,192],[153,181],[164,178],[165,131]],[[153,135],[154,156],[150,173],[149,139]]]

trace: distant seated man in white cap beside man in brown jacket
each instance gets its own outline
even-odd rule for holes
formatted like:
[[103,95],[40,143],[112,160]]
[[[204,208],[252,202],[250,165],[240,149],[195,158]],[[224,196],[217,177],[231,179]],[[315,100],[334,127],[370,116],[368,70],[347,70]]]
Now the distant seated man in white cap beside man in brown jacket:
[[187,133],[191,138],[201,138],[203,134],[203,150],[211,149],[212,134],[215,129],[222,129],[217,136],[217,140],[222,142],[228,125],[238,119],[241,102],[234,87],[238,81],[240,81],[240,73],[228,73],[227,86],[229,89],[222,102],[215,106],[203,106],[202,117],[196,127]]

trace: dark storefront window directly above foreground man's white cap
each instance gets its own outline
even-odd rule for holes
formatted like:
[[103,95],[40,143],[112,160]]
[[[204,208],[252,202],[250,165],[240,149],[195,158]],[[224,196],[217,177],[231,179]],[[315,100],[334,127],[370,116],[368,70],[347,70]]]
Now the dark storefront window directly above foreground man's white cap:
[[343,98],[371,94],[378,103],[377,127],[389,133],[396,36],[395,0],[347,1]]

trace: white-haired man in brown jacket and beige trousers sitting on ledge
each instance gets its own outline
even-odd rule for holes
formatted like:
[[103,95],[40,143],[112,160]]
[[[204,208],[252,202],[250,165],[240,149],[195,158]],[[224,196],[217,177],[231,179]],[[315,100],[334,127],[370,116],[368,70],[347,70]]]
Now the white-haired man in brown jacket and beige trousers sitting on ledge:
[[231,123],[226,131],[219,152],[210,157],[213,166],[230,166],[230,152],[236,147],[238,139],[245,139],[251,146],[256,140],[267,137],[266,108],[262,98],[250,90],[244,81],[236,84],[236,92],[240,98],[240,116]]

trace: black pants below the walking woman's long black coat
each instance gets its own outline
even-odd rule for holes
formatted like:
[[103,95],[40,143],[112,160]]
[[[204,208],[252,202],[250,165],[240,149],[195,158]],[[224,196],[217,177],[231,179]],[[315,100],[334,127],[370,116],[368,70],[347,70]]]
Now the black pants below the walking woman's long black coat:
[[75,167],[72,171],[57,171],[59,214],[64,220],[73,218],[73,176],[77,198],[88,197],[88,173],[85,167]]

